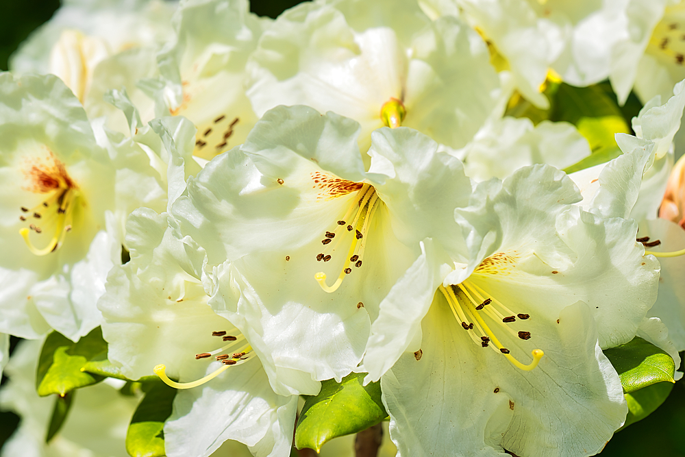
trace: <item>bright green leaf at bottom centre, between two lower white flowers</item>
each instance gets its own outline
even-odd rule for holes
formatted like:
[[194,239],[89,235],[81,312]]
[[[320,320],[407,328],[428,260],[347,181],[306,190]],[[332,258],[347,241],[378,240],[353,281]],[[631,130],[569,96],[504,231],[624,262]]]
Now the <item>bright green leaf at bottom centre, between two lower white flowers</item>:
[[295,432],[297,449],[319,452],[327,441],[366,430],[388,415],[381,402],[380,383],[362,386],[365,375],[351,373],[340,384],[323,381],[319,395],[305,397]]

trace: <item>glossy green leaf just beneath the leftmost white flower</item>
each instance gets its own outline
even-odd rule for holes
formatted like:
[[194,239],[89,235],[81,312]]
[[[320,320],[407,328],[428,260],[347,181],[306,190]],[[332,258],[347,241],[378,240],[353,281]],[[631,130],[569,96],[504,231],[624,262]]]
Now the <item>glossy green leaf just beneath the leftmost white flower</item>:
[[38,359],[36,391],[41,397],[66,395],[75,388],[90,386],[103,380],[102,376],[86,373],[84,365],[103,351],[107,343],[102,339],[100,328],[74,343],[66,336],[52,332],[45,339]]

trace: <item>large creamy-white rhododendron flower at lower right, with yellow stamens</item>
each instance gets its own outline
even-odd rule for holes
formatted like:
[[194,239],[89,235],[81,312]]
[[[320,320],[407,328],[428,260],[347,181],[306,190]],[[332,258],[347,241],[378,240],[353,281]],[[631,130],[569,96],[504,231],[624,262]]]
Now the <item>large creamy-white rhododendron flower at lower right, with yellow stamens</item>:
[[[401,453],[589,456],[622,425],[621,382],[601,348],[635,336],[658,262],[635,223],[582,212],[580,198],[546,165],[481,183],[455,212],[471,262],[406,275],[388,294],[363,367],[385,373]],[[403,319],[416,336],[391,332]]]

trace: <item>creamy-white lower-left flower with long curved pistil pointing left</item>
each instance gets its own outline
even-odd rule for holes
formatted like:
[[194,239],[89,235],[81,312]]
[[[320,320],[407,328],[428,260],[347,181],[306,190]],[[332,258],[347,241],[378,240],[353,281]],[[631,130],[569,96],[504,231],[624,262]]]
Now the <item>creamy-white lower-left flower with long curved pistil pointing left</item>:
[[112,269],[99,301],[103,336],[128,378],[154,369],[184,389],[164,425],[166,455],[209,456],[227,439],[256,456],[288,455],[297,395],[274,393],[249,341],[207,305],[205,251],[166,213],[146,209],[129,217],[127,243],[131,261]]

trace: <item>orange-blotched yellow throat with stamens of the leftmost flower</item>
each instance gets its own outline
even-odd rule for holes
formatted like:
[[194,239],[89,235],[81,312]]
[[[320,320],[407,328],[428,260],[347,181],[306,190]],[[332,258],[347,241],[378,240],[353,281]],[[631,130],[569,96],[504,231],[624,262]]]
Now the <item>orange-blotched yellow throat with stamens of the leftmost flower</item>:
[[[66,234],[71,232],[82,193],[66,173],[64,164],[53,154],[47,160],[29,162],[24,174],[27,177],[25,190],[43,194],[45,198],[32,208],[19,208],[19,220],[27,225],[19,230],[19,234],[29,251],[36,256],[45,256],[59,249]],[[33,238],[42,238],[47,243],[42,243],[42,247],[34,245],[31,232],[34,232]]]

